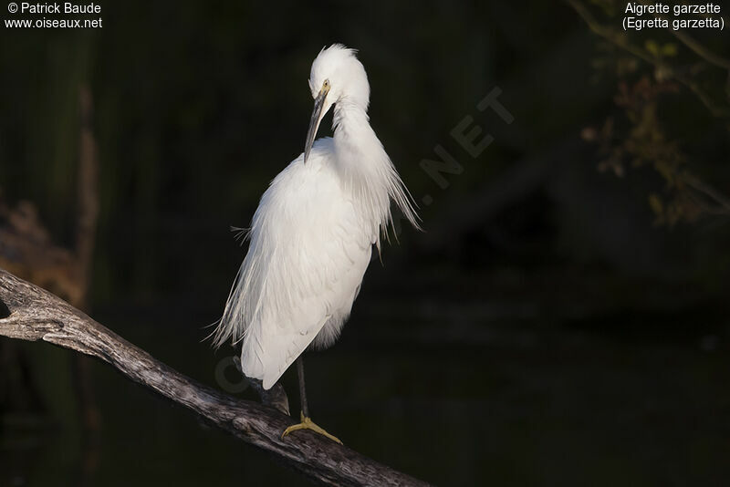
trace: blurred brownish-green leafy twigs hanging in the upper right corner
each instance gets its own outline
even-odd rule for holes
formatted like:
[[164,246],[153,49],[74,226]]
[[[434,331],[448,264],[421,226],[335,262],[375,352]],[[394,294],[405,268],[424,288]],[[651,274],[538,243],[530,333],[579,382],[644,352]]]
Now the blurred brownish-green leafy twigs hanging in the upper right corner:
[[[610,115],[581,134],[598,147],[599,171],[624,177],[627,168],[651,168],[663,182],[647,195],[657,224],[730,216],[730,199],[704,181],[727,181],[727,161],[706,155],[712,152],[690,141],[727,143],[730,60],[681,31],[621,32],[625,3],[591,2],[596,8],[569,3],[600,36],[593,62],[597,75],[614,78],[617,85]],[[698,137],[691,139],[688,132]]]

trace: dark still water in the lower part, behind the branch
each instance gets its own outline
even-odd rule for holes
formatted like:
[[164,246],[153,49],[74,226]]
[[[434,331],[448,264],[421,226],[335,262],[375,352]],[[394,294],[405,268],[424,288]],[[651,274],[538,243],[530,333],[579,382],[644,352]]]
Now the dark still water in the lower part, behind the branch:
[[[214,385],[227,352],[214,356],[198,326],[216,310],[185,302],[173,301],[172,322],[162,319],[169,309],[144,306],[97,316]],[[355,450],[439,485],[726,485],[726,328],[705,319],[676,332],[648,315],[657,323],[649,331],[620,316],[602,331],[546,325],[538,314],[525,304],[370,295],[336,347],[307,357],[312,415]],[[99,442],[84,449],[70,354],[24,349],[48,410],[6,421],[2,485],[307,484],[99,362]],[[284,384],[297,409],[291,372]]]

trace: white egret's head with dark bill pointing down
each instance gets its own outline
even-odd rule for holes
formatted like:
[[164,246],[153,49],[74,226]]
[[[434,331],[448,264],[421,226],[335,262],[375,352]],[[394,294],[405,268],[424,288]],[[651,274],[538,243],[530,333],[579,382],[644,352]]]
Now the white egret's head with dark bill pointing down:
[[333,44],[323,48],[312,63],[309,89],[314,98],[314,110],[304,148],[305,163],[317,136],[319,122],[332,105],[348,103],[360,109],[368,109],[370,102],[368,75],[365,74],[365,68],[355,57],[355,53],[355,49]]

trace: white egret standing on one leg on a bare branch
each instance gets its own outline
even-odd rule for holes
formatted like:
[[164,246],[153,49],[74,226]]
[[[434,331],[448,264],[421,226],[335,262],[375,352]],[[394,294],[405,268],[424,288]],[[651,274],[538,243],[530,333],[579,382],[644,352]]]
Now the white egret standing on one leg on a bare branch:
[[[297,360],[301,423],[315,430],[299,357],[339,337],[370,263],[392,223],[391,200],[418,228],[412,198],[370,128],[370,85],[356,51],[336,44],[312,63],[314,111],[302,154],[281,171],[255,211],[248,254],[214,332],[241,342],[241,368],[270,389]],[[315,141],[332,106],[334,137]],[[337,440],[339,441],[339,440]]]

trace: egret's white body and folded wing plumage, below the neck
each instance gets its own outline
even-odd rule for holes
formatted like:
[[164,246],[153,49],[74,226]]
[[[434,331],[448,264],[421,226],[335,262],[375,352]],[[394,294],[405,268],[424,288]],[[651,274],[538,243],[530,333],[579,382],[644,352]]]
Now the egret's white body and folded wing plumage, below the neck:
[[266,389],[328,320],[349,315],[370,263],[375,236],[327,163],[331,153],[331,140],[318,140],[308,163],[293,161],[262,196],[216,333],[219,344],[243,340],[244,373]]

